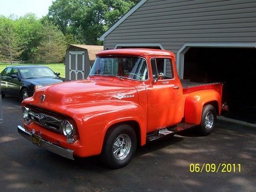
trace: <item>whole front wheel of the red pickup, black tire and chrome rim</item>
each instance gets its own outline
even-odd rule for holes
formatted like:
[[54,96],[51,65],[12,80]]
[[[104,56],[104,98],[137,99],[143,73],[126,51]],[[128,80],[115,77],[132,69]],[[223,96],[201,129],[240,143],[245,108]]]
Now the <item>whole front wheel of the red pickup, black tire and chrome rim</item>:
[[123,167],[132,160],[136,147],[137,137],[133,127],[128,124],[117,125],[106,133],[101,161],[113,169]]

